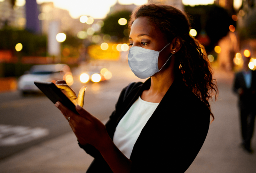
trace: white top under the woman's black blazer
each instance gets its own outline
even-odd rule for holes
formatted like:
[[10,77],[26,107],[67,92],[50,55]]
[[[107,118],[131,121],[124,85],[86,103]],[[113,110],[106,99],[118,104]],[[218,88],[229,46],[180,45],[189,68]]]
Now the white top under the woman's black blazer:
[[133,146],[143,127],[159,103],[137,99],[116,127],[113,142],[122,153],[130,158]]

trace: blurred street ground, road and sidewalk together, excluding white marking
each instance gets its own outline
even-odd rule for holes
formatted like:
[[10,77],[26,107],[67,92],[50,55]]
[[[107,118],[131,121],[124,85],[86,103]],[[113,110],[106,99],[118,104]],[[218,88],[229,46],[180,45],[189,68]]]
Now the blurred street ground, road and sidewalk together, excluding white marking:
[[[113,77],[98,86],[86,84],[84,106],[103,122],[114,110],[121,89],[129,82],[139,81],[127,63],[109,63],[107,68]],[[237,97],[231,92],[233,74],[215,70],[215,76],[219,86],[218,101],[212,102],[215,120],[201,151],[186,173],[254,173],[255,152],[248,154],[240,147]],[[82,84],[75,75],[74,79],[73,88],[78,92]],[[1,98],[4,98],[0,103],[1,124],[31,129],[40,127],[49,133],[23,144],[1,146],[1,157],[5,157],[0,161],[1,173],[85,172],[92,157],[79,148],[66,119],[46,97],[21,97],[18,92],[13,92],[2,93]],[[252,149],[256,150],[255,135]]]

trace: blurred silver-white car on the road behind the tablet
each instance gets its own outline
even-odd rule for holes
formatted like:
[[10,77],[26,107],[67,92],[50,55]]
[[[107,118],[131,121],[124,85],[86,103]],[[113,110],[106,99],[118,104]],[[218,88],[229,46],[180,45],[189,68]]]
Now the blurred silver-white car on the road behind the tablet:
[[66,64],[47,64],[35,65],[25,72],[18,79],[18,90],[23,94],[31,92],[40,92],[35,86],[34,81],[49,81],[55,83],[56,80],[66,80],[68,85],[73,84],[73,76],[70,68]]

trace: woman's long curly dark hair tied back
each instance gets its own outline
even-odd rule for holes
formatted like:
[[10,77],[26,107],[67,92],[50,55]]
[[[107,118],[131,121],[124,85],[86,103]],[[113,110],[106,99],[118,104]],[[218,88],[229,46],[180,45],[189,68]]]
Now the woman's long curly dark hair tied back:
[[[175,54],[174,74],[183,79],[185,84],[211,110],[209,99],[217,97],[216,80],[212,78],[212,69],[203,45],[189,35],[190,20],[188,15],[173,6],[164,4],[142,5],[132,12],[129,28],[138,17],[148,17],[155,27],[166,36],[168,42],[179,37],[181,49]],[[214,116],[210,113],[212,118]]]

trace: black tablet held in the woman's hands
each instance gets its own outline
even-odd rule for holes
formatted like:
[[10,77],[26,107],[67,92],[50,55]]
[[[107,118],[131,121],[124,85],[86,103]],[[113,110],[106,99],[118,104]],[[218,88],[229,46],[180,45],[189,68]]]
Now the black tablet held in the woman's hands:
[[55,86],[53,82],[34,81],[34,84],[50,99],[54,104],[59,101],[71,111],[79,115],[75,109],[74,103]]

